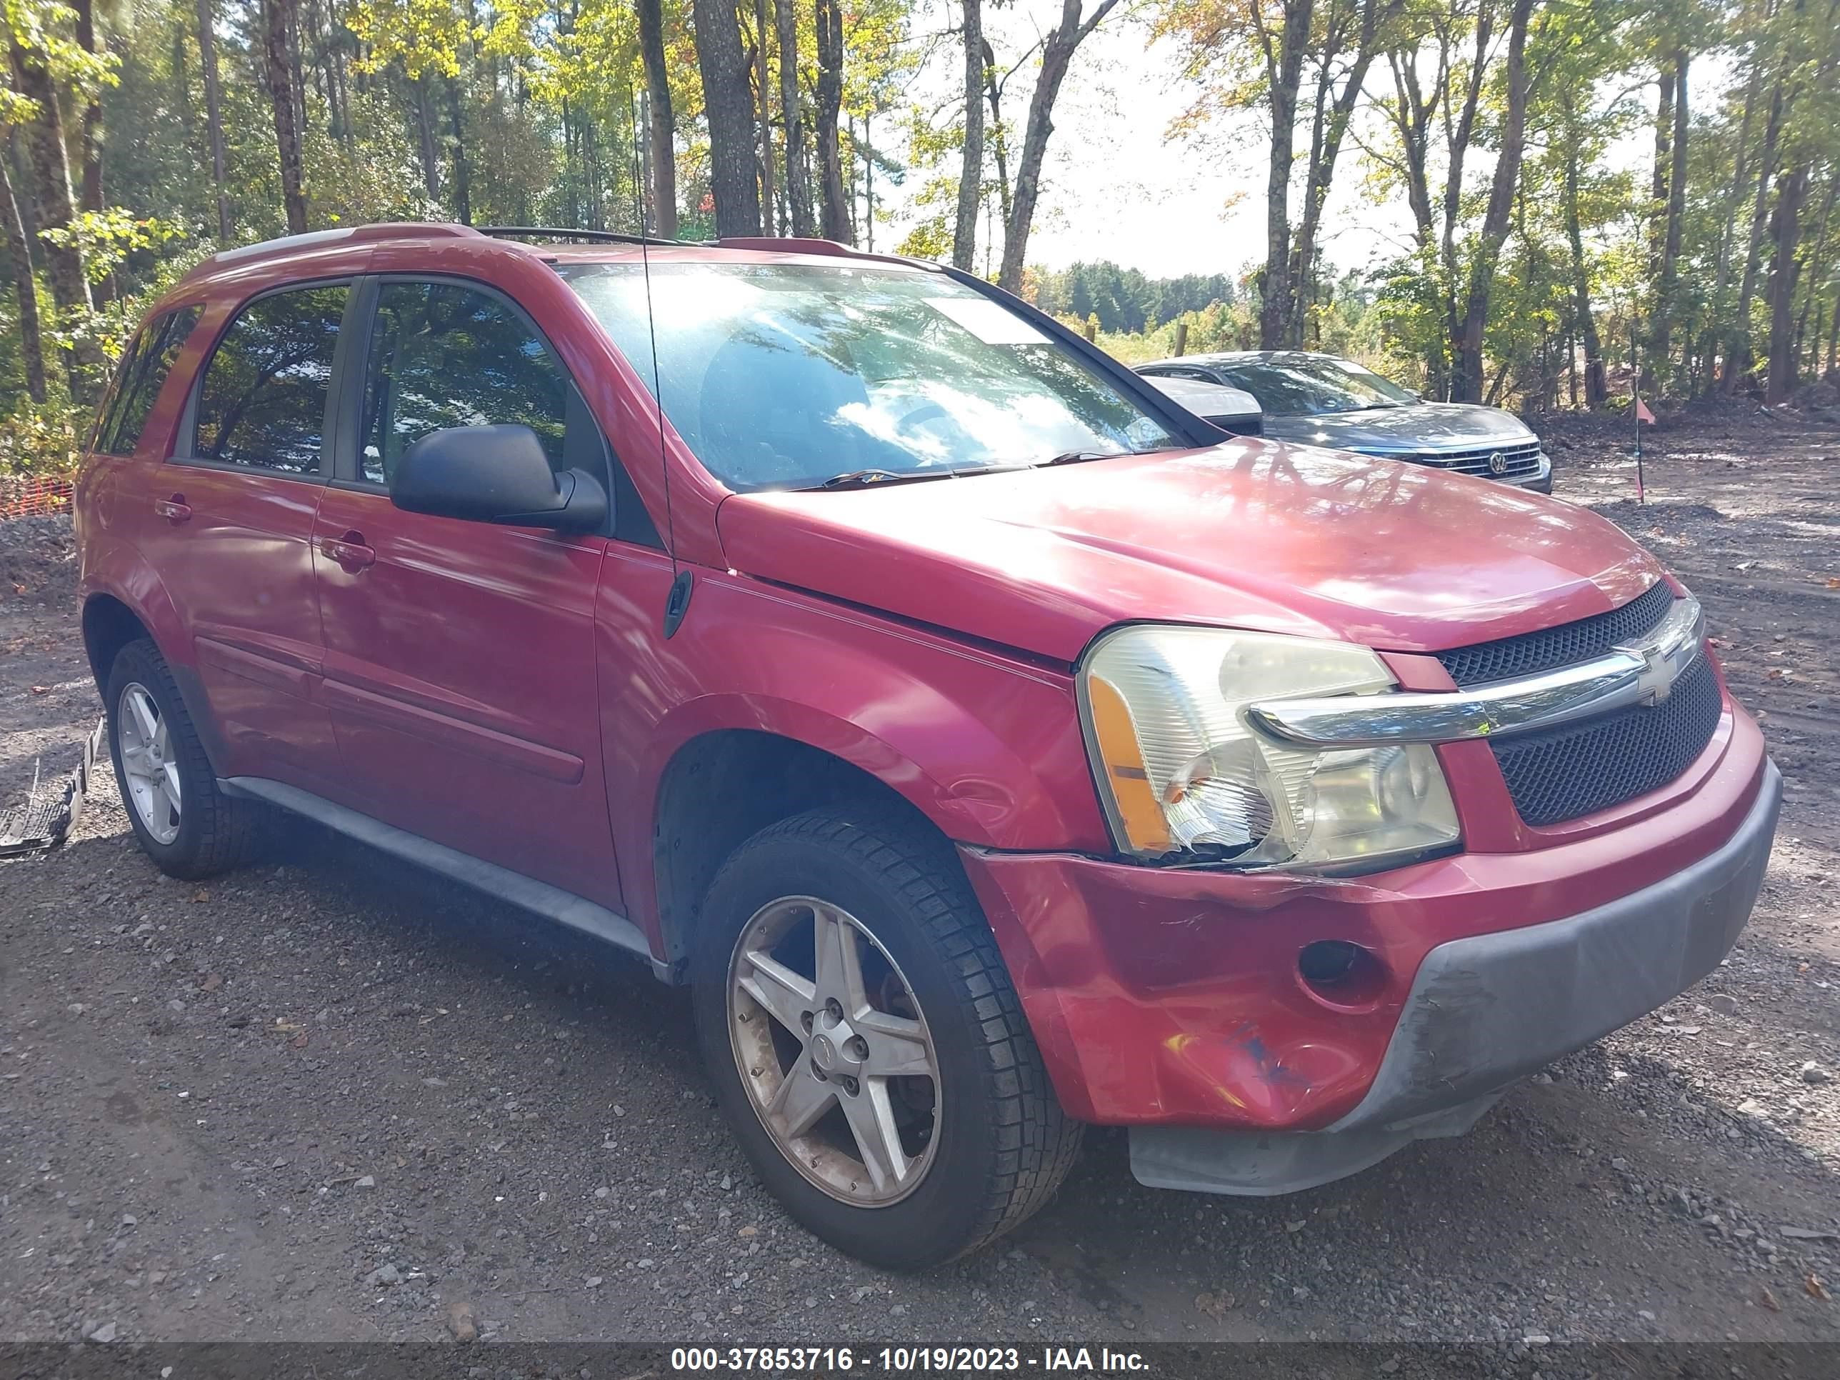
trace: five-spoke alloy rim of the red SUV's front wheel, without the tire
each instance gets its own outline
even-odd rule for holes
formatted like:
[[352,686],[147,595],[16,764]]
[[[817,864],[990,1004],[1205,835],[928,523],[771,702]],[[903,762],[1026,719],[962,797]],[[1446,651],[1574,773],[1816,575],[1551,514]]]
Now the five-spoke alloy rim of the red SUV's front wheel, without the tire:
[[900,966],[813,896],[760,907],[729,962],[729,1038],[780,1154],[839,1202],[911,1194],[938,1143],[938,1056]]

